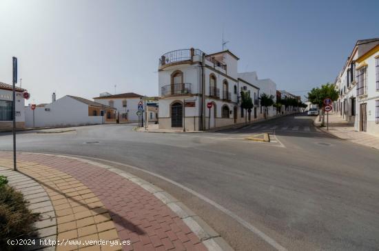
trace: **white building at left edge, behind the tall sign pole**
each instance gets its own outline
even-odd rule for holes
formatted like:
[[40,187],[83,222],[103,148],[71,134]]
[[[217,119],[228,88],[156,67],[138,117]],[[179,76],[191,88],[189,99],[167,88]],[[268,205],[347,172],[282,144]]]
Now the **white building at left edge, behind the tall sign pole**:
[[[22,88],[15,88],[16,90],[16,128],[25,128],[25,114],[23,107],[25,106],[25,99],[23,99],[23,92],[26,90]],[[12,118],[12,101],[13,92],[12,86],[0,82],[0,130],[10,130],[13,126]]]

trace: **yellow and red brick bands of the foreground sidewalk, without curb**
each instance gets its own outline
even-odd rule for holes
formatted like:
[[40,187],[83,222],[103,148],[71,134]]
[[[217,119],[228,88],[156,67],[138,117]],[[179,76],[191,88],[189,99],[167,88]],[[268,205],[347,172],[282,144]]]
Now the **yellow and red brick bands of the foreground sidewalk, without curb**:
[[[207,250],[167,205],[119,174],[65,157],[23,153],[17,158],[19,170],[41,183],[52,199],[58,240],[130,240],[123,250]],[[10,153],[0,152],[0,165],[12,168],[11,161]],[[120,249],[86,249],[100,248]]]

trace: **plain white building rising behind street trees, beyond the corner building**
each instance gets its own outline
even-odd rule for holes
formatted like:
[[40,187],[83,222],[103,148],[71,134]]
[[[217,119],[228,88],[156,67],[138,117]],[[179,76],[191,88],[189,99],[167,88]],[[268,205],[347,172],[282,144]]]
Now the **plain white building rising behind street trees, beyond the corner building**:
[[[272,96],[274,103],[276,102],[276,83],[272,79],[258,79],[256,72],[242,72],[238,73],[238,77],[253,83],[254,86],[260,88],[260,95],[267,94],[267,96]],[[273,117],[276,115],[276,109],[271,106],[267,108],[267,116]]]

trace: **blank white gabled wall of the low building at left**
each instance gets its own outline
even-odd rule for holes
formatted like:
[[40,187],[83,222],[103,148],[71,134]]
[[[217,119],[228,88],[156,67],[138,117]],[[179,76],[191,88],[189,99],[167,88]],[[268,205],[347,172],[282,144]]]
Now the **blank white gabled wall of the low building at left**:
[[[46,111],[47,108],[50,111]],[[102,121],[101,116],[88,116],[87,104],[68,96],[34,110],[34,127],[90,125]],[[30,107],[25,108],[25,126],[33,127],[33,111]]]

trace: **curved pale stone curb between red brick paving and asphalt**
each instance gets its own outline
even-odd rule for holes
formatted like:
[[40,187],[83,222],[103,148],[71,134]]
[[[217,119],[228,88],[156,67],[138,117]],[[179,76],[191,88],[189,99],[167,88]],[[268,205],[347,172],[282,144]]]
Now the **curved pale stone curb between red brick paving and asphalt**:
[[156,198],[161,200],[167,207],[169,207],[183,222],[188,226],[194,234],[200,239],[201,243],[205,245],[207,250],[211,251],[233,251],[233,248],[218,234],[212,227],[210,227],[201,217],[198,217],[192,210],[187,208],[181,201],[172,197],[172,195],[168,194],[161,188],[158,188],[156,185],[145,181],[139,177],[130,174],[129,172],[125,172],[120,170],[119,168],[114,168],[111,165],[105,165],[103,163],[97,163],[95,161],[90,161],[88,159],[82,159],[79,157],[71,157],[67,155],[60,154],[47,154],[47,153],[37,153],[37,152],[23,152],[25,154],[39,154],[53,157],[61,157],[66,159],[75,159],[77,161],[81,161],[84,163],[89,163],[91,165],[96,165],[99,168],[104,168],[109,170],[110,172],[114,172],[119,174],[121,177],[136,183],[136,185],[141,186],[143,189],[147,190],[153,194]]

